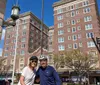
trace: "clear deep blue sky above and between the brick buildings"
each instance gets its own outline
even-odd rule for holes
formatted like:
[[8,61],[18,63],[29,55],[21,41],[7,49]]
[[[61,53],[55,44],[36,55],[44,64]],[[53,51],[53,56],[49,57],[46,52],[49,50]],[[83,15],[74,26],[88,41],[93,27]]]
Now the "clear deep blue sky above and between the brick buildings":
[[[7,1],[5,19],[10,17],[11,8],[15,4],[15,1],[16,0]],[[44,0],[44,23],[47,26],[52,26],[54,23],[52,4],[57,1],[59,0]],[[100,0],[97,0],[97,2],[98,2],[98,8],[100,11]],[[19,6],[21,9],[20,13],[31,11],[39,19],[41,19],[41,7],[42,7],[41,4],[42,4],[42,0],[19,0]],[[0,54],[2,51],[3,43],[4,43],[4,33],[5,33],[5,30],[3,31],[2,40],[0,41]]]

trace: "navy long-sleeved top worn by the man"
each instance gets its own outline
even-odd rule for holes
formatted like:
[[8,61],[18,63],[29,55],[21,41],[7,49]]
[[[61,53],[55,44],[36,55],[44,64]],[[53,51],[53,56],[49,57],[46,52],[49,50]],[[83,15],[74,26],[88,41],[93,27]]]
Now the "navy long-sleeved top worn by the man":
[[59,75],[52,66],[39,67],[36,77],[40,77],[40,85],[61,85]]

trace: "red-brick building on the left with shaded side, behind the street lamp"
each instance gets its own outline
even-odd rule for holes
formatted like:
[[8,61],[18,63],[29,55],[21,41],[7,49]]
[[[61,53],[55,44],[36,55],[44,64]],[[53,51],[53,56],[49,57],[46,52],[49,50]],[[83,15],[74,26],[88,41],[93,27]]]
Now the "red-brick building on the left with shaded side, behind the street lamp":
[[[10,20],[8,19],[7,21],[10,22]],[[39,56],[41,53],[41,21],[31,12],[26,12],[20,15],[16,23],[15,27],[9,26],[6,28],[3,57],[7,57],[4,64],[11,65],[10,71],[12,71],[17,36],[16,30],[18,27],[16,72],[20,72],[28,64],[29,57],[32,55]],[[48,49],[48,30],[49,28],[44,24],[44,54],[47,53]]]

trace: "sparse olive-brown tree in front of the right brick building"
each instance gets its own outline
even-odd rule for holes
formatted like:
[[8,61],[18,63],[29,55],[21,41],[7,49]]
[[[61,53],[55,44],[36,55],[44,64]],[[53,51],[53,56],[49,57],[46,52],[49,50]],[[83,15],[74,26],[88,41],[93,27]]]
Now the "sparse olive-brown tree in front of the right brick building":
[[71,69],[71,71],[76,72],[80,79],[80,85],[82,76],[89,75],[89,72],[95,69],[98,61],[97,57],[84,54],[80,50],[65,51],[61,54],[55,55],[56,56],[54,56],[54,62],[56,63],[54,64],[57,64],[57,68],[63,65],[67,66],[67,68]]

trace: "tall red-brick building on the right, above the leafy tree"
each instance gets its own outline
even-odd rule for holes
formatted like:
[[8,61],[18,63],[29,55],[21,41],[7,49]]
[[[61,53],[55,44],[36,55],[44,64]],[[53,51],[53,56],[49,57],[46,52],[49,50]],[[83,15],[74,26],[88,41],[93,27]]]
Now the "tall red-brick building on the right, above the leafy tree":
[[54,52],[81,49],[98,55],[91,35],[100,37],[96,0],[60,0],[54,7]]

